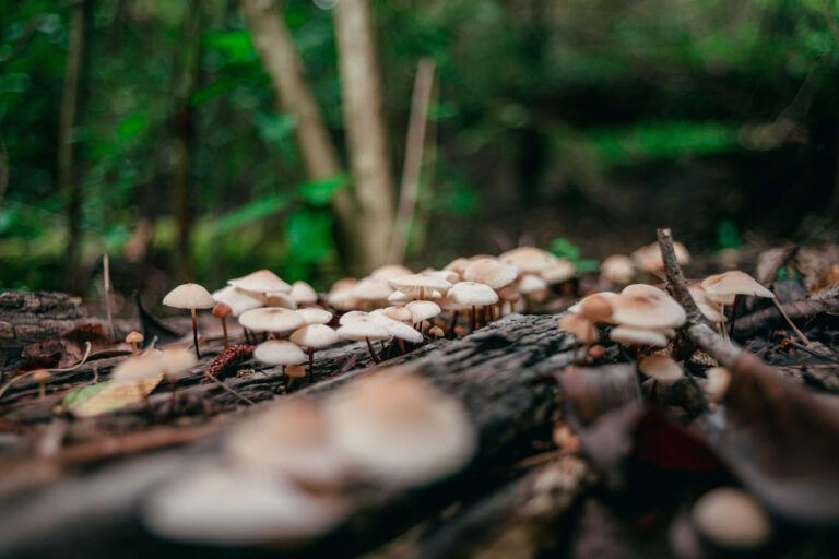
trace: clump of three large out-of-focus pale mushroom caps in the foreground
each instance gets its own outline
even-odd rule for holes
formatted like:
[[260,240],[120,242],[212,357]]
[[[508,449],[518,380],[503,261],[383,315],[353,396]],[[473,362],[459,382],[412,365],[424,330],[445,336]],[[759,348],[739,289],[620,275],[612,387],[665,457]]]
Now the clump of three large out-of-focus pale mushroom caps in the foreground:
[[143,521],[180,542],[305,542],[351,515],[353,491],[438,481],[476,448],[459,400],[413,372],[385,370],[322,403],[298,396],[243,421],[223,460],[154,491]]

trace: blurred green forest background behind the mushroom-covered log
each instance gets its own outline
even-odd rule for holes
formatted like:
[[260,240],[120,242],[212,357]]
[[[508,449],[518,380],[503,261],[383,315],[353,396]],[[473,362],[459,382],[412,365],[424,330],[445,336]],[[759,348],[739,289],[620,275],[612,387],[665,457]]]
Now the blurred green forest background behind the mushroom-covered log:
[[[365,4],[367,27],[354,21]],[[0,285],[86,293],[104,252],[123,292],[176,278],[215,288],[259,267],[322,289],[403,252],[416,267],[519,242],[604,258],[650,242],[655,226],[699,252],[834,241],[838,9],[7,0]],[[274,48],[286,32],[291,67]],[[314,104],[289,99],[294,64]],[[413,152],[412,105],[425,127]],[[300,107],[319,115],[326,134],[315,122],[309,139],[323,153],[303,146],[312,121]],[[377,142],[371,177],[363,153]],[[406,248],[389,251],[403,183],[416,202],[397,225]],[[340,197],[376,188],[386,195],[361,202],[373,210],[344,211],[339,226]],[[347,230],[370,238],[366,260]]]

